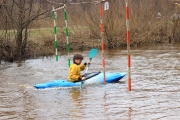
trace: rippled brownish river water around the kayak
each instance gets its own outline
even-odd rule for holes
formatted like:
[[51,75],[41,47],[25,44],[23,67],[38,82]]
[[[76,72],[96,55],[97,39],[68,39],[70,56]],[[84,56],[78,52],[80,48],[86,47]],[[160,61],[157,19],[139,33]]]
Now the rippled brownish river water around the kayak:
[[[80,52],[80,51],[79,51]],[[70,57],[77,51],[72,52]],[[80,52],[88,60],[88,51]],[[101,51],[89,72],[101,71]],[[106,72],[127,72],[127,50],[105,51]],[[0,65],[0,120],[178,120],[180,45],[131,50],[132,91],[118,83],[37,90],[35,83],[66,79],[67,55]]]

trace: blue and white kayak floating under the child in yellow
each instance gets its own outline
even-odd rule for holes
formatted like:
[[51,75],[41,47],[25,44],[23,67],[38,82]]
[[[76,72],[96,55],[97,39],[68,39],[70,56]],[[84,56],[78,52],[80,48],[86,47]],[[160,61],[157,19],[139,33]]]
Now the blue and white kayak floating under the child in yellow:
[[[126,73],[106,73],[106,83],[117,82],[122,79]],[[84,84],[103,84],[104,83],[104,74],[102,72],[93,72],[86,74],[86,80],[83,81]],[[45,88],[54,88],[54,87],[75,87],[80,86],[81,81],[79,82],[69,82],[67,80],[52,80],[45,83],[34,84],[34,87],[37,89]]]

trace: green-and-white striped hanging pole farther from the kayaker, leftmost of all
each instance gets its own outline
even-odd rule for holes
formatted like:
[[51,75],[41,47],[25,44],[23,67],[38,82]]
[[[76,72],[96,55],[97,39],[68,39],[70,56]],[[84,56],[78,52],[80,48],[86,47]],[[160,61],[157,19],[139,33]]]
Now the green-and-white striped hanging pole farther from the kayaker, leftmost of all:
[[56,35],[56,18],[57,18],[57,14],[55,12],[54,6],[53,6],[53,10],[52,10],[52,17],[54,20],[54,36],[55,36],[55,40],[54,40],[54,47],[55,47],[55,51],[56,51],[56,61],[58,61],[58,52],[57,52],[57,48],[58,48],[58,43],[57,43],[57,35]]

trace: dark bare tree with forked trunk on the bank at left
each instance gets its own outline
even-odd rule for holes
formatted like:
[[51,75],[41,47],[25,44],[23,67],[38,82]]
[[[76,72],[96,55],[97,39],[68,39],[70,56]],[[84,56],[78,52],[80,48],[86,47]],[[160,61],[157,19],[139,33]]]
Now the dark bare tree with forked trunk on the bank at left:
[[28,27],[37,19],[46,17],[46,10],[44,1],[40,0],[3,0],[3,8],[8,16],[12,26],[11,29],[17,30],[16,35],[16,55],[17,59],[21,61],[28,38]]

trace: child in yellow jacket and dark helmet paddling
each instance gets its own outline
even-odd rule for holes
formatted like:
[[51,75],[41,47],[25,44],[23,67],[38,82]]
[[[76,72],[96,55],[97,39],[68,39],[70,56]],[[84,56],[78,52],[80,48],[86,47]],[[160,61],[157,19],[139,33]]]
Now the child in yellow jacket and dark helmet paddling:
[[90,61],[81,64],[82,60],[83,60],[82,55],[80,54],[74,55],[73,64],[71,64],[69,68],[68,81],[78,82],[86,79],[86,77],[81,75],[81,71],[85,69],[87,64],[90,64]]

